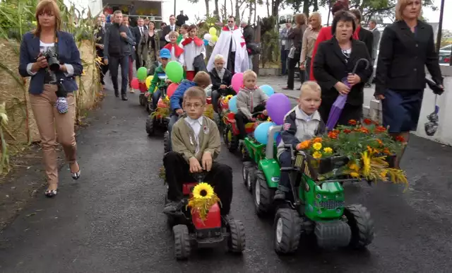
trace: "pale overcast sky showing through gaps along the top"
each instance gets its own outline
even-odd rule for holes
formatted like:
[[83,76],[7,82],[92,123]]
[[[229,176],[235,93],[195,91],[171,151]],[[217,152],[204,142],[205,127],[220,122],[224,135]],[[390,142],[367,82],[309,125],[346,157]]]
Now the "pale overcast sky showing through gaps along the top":
[[[65,0],[68,1],[69,0]],[[93,0],[76,0],[73,2],[76,2],[78,5],[80,5],[83,8],[88,8],[89,1]],[[220,1],[222,3],[224,1]],[[234,1],[233,1],[234,2]],[[230,1],[227,1],[228,6],[230,6]],[[443,22],[443,28],[447,30],[452,30],[452,20],[446,19],[447,16],[450,16],[452,14],[452,0],[445,0],[444,5],[444,22]],[[424,17],[427,18],[427,20],[431,23],[438,23],[439,22],[439,5],[441,4],[441,0],[434,0],[434,4],[438,7],[438,11],[432,11],[430,8],[424,8]],[[215,4],[213,1],[210,1],[209,9],[210,13],[214,10]],[[261,15],[261,17],[265,17],[267,14],[266,6],[258,6],[258,15]],[[179,14],[179,11],[184,10],[184,13],[186,13],[187,16],[189,16],[190,20],[194,20],[195,16],[202,17],[203,14],[206,13],[206,4],[205,1],[199,0],[198,4],[191,4],[187,0],[176,0],[176,11]],[[228,11],[230,11],[230,7],[228,8]],[[287,10],[290,13],[290,10]],[[168,21],[167,18],[170,14],[174,12],[174,0],[166,0],[163,4],[163,21]],[[282,13],[282,11],[280,11]],[[320,13],[323,17],[323,23],[326,23],[326,18],[328,18],[328,7],[326,8],[320,8]],[[248,16],[248,13],[245,12],[245,16]],[[254,16],[254,15],[253,15]],[[246,17],[247,19],[247,17]]]

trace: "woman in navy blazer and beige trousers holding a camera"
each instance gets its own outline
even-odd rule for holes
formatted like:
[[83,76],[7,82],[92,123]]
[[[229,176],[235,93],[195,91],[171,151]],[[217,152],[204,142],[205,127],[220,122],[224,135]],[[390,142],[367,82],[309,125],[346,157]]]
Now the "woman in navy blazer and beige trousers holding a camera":
[[[56,2],[40,1],[35,17],[36,30],[23,35],[20,45],[19,73],[23,77],[31,77],[30,103],[40,132],[49,183],[45,195],[54,197],[59,182],[57,136],[66,154],[66,161],[69,162],[72,178],[76,180],[80,177],[76,161],[76,104],[73,91],[78,90],[74,76],[82,74],[83,66],[73,35],[60,31],[61,16]],[[49,50],[57,53],[59,61],[59,64],[57,62],[52,66],[52,70],[44,56]],[[57,108],[57,103],[63,103],[64,110]]]

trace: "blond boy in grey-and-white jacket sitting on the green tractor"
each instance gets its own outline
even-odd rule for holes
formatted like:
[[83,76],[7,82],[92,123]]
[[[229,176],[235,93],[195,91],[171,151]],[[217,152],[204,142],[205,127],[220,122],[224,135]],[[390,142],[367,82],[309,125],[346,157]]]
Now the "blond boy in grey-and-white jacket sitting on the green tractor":
[[[321,88],[319,84],[315,81],[303,83],[298,105],[285,115],[283,130],[280,133],[281,141],[278,144],[277,156],[282,169],[292,165],[292,154],[285,147],[287,144],[291,145],[294,150],[301,150],[300,144],[303,141],[325,133],[325,123],[318,111],[320,103]],[[289,173],[281,171],[280,183],[274,199],[284,200],[289,192],[291,192]]]

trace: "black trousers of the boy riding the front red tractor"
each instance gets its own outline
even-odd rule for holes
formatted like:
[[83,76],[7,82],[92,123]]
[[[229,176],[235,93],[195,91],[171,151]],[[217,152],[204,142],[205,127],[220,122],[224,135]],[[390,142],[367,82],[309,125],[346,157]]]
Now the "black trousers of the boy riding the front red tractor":
[[[195,182],[190,174],[190,165],[180,153],[170,151],[163,157],[163,166],[168,183],[168,199],[179,201],[184,198],[182,185],[184,182]],[[208,182],[221,201],[221,215],[227,215],[232,202],[232,168],[228,165],[213,162],[212,169],[206,175]]]

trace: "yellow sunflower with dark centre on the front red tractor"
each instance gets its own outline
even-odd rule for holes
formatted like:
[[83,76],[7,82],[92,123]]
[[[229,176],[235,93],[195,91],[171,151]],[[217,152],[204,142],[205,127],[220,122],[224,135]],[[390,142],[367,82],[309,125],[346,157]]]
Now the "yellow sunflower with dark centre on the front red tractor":
[[190,207],[192,213],[199,214],[201,221],[206,221],[209,209],[218,202],[220,202],[220,199],[213,191],[213,187],[208,183],[201,182],[194,187],[189,204],[186,207]]

